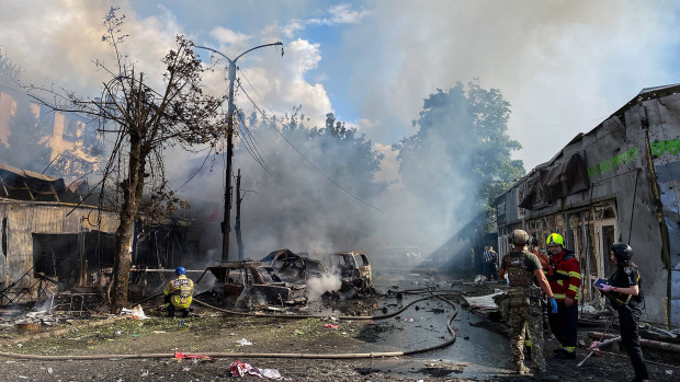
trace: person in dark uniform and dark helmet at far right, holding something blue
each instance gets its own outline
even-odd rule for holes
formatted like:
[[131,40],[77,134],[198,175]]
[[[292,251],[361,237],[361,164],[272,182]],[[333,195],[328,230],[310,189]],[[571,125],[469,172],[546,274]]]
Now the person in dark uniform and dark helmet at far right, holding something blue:
[[634,381],[649,381],[649,373],[645,366],[645,357],[639,347],[639,332],[637,324],[642,315],[641,275],[637,266],[631,262],[633,248],[624,243],[614,243],[610,246],[610,258],[616,265],[616,270],[600,290],[609,298],[612,306],[619,313],[621,329],[621,345],[626,349],[635,370]]

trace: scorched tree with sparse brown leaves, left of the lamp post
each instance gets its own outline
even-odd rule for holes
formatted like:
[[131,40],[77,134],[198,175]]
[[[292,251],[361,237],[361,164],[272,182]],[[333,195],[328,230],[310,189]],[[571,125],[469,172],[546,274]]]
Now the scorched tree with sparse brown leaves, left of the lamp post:
[[[120,225],[115,232],[113,296],[111,311],[127,304],[127,286],[132,229],[136,219],[154,220],[182,207],[184,201],[169,189],[165,174],[163,149],[179,146],[191,150],[194,144],[215,146],[223,132],[219,115],[222,97],[203,92],[201,76],[204,65],[193,51],[193,43],[177,37],[177,47],[162,59],[166,68],[163,85],[155,90],[135,63],[120,47],[127,35],[121,26],[124,15],[116,8],[106,14],[106,33],[102,42],[115,53],[115,66],[97,61],[98,69],[110,74],[100,97],[83,99],[72,92],[41,89],[53,100],[43,104],[59,112],[79,112],[103,120],[103,134],[115,135],[111,155],[103,171],[102,193],[109,184],[120,190]],[[118,178],[114,183],[111,181]],[[144,195],[149,197],[143,198]],[[100,197],[100,205],[103,197]]]

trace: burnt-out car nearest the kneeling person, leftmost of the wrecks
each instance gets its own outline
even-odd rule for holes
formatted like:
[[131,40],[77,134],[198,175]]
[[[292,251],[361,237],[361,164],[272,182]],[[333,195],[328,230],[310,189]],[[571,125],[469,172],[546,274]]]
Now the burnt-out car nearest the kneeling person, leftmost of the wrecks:
[[215,298],[236,308],[295,305],[307,302],[306,287],[283,281],[262,262],[225,263],[206,269],[215,276]]

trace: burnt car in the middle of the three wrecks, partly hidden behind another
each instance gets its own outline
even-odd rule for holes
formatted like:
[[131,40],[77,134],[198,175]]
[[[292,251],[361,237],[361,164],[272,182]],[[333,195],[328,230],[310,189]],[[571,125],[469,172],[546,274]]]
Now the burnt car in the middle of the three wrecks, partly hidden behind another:
[[261,262],[271,266],[282,280],[292,283],[306,283],[313,277],[329,274],[328,267],[321,261],[298,255],[290,250],[274,251]]

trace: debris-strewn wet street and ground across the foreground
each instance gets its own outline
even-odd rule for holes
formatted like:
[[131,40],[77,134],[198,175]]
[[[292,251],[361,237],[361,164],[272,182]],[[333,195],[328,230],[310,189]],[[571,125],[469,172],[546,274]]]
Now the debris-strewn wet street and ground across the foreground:
[[[259,369],[274,369],[290,381],[533,380],[532,375],[518,379],[511,371],[507,325],[471,311],[464,303],[463,297],[503,289],[502,285],[478,286],[463,275],[406,273],[384,275],[376,279],[376,288],[399,291],[403,297],[381,293],[354,301],[318,301],[296,313],[318,317],[302,320],[235,316],[209,309],[196,309],[195,314],[183,320],[165,319],[158,315],[159,305],[150,301],[144,304],[149,320],[72,320],[52,329],[54,335],[5,329],[1,351],[45,359],[4,357],[2,377],[7,381],[220,381],[231,380],[229,366],[240,361]],[[432,298],[388,319],[352,319],[389,315],[428,296],[445,297],[453,304]],[[446,328],[452,315],[454,337]],[[601,328],[585,328],[583,339],[589,344],[586,331]],[[452,338],[453,344],[419,352]],[[554,339],[547,340],[546,351],[555,346]],[[384,355],[409,351],[415,354]],[[259,356],[249,356],[253,354]],[[587,347],[579,346],[577,354],[578,361],[582,360],[588,355]],[[101,359],[101,355],[106,356]],[[202,358],[204,355],[211,357]],[[672,357],[647,355],[658,362],[650,364],[654,380],[675,380]],[[588,359],[580,368],[575,367],[576,362],[565,364],[551,359],[548,367],[555,380],[570,381],[588,373],[621,369],[619,359],[603,354]]]

